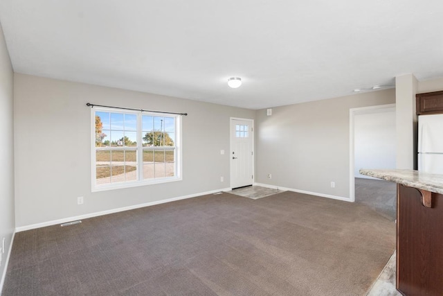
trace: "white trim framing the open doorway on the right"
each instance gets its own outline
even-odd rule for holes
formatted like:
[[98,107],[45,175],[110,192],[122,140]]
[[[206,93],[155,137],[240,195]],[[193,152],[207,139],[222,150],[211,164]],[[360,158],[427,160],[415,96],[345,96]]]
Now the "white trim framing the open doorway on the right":
[[359,108],[351,108],[349,110],[349,198],[350,202],[355,202],[355,177],[354,177],[354,166],[355,166],[355,143],[354,143],[354,116],[357,114],[365,114],[365,113],[377,113],[377,110],[383,110],[386,108],[395,107],[395,104],[386,104],[386,105],[377,105],[377,106],[369,106],[369,107],[359,107]]

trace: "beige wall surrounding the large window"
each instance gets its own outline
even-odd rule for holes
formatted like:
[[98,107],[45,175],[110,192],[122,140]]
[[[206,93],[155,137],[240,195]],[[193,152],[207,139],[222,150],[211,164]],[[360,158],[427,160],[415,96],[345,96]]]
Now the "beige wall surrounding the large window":
[[[91,193],[91,110],[86,103],[183,116],[183,181]],[[17,227],[131,207],[229,186],[230,116],[252,110],[15,74]],[[220,182],[220,177],[224,182]],[[84,204],[77,204],[77,197]]]

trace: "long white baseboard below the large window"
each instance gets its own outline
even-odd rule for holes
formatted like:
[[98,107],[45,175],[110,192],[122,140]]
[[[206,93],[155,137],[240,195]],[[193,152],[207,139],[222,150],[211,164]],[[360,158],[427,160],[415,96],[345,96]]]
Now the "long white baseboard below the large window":
[[195,193],[195,194],[190,194],[190,195],[183,195],[183,196],[179,196],[177,198],[168,198],[167,200],[156,200],[155,202],[145,202],[143,204],[134,204],[134,205],[129,206],[129,207],[120,207],[120,208],[117,208],[117,209],[109,209],[109,210],[106,210],[106,211],[98,211],[98,212],[95,212],[95,213],[84,214],[84,215],[80,215],[80,216],[73,216],[73,217],[62,218],[62,219],[58,219],[58,220],[51,220],[51,221],[47,221],[47,222],[43,222],[43,223],[37,223],[37,224],[32,224],[32,225],[16,227],[15,228],[15,232],[24,232],[24,231],[30,230],[30,229],[36,229],[36,228],[46,227],[46,226],[51,226],[51,225],[57,225],[57,224],[62,224],[62,223],[71,222],[71,221],[75,221],[75,220],[81,220],[81,219],[87,219],[87,218],[92,218],[92,217],[97,217],[97,216],[103,216],[103,215],[107,215],[107,214],[114,214],[114,213],[118,213],[119,211],[129,211],[131,209],[138,209],[138,208],[141,208],[141,207],[150,207],[150,206],[153,206],[155,204],[164,204],[166,202],[174,202],[176,200],[185,200],[187,198],[195,198],[195,197],[201,196],[201,195],[207,195],[207,194],[212,194],[212,193],[216,193],[216,192],[220,192],[220,191],[229,191],[229,190],[231,190],[231,189],[230,188],[224,188],[224,189],[211,190],[211,191]]

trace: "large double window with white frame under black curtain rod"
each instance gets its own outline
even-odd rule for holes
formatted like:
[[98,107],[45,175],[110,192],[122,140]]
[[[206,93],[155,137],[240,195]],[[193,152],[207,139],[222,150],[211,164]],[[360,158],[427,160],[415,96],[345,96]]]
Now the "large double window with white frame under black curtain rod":
[[181,180],[179,115],[91,109],[92,189]]

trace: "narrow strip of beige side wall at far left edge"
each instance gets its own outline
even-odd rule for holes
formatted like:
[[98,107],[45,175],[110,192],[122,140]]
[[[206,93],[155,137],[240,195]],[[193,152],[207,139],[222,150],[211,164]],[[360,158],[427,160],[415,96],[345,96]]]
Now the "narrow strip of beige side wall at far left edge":
[[3,238],[6,238],[5,252],[1,255],[0,294],[3,277],[6,274],[6,256],[15,229],[13,78],[8,49],[0,26],[0,247]]

